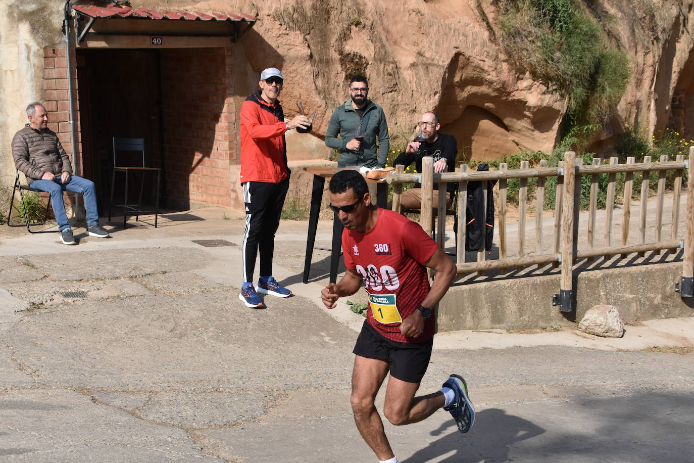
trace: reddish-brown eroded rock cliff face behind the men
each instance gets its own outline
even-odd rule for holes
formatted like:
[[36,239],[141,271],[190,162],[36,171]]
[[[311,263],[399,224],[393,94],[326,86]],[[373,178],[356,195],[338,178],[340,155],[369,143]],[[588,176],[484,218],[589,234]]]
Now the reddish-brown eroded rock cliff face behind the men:
[[[180,2],[176,2],[180,3]],[[206,1],[200,8],[229,8]],[[442,131],[476,159],[521,149],[550,151],[567,101],[547,83],[518,75],[492,33],[491,0],[312,0],[237,3],[260,19],[244,39],[255,71],[278,65],[288,76],[283,99],[318,109],[321,137],[332,109],[347,98],[351,74],[369,78],[370,97],[393,131],[411,133],[418,115],[435,110]],[[627,52],[632,78],[613,116],[593,141],[604,151],[638,124],[694,135],[692,0],[598,0],[591,15],[611,45]],[[249,10],[249,8],[251,8]],[[255,77],[253,77],[255,80]],[[255,82],[248,82],[255,85]],[[310,146],[303,140],[304,146]],[[325,149],[316,140],[316,157]]]

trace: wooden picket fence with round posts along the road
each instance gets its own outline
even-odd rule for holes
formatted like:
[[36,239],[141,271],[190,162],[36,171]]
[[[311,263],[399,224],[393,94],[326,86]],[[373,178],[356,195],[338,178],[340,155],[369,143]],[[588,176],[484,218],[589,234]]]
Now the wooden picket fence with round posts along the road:
[[[694,158],[694,146],[689,151],[689,161],[684,160],[683,155],[678,155],[677,160],[668,161],[666,156],[661,156],[658,162],[652,162],[650,156],[646,156],[643,162],[636,163],[634,158],[627,158],[625,164],[619,164],[618,158],[611,158],[609,165],[601,165],[599,158],[593,159],[593,165],[584,166],[582,159],[576,159],[573,151],[567,151],[564,161],[559,167],[547,167],[546,161],[541,161],[540,166],[534,169],[528,168],[527,161],[523,161],[521,169],[508,169],[506,164],[501,164],[498,171],[468,171],[467,165],[461,165],[460,171],[434,174],[433,160],[429,156],[422,160],[421,174],[404,174],[403,166],[396,166],[396,171],[387,177],[388,183],[393,185],[393,210],[400,208],[400,195],[403,192],[403,183],[419,182],[422,185],[421,225],[431,235],[432,233],[432,196],[434,183],[439,183],[439,188],[445,190],[445,183],[458,183],[459,207],[457,208],[457,272],[482,272],[491,269],[507,269],[509,267],[525,267],[527,265],[561,265],[561,284],[559,293],[552,298],[553,305],[559,305],[562,312],[573,311],[575,307],[573,294],[573,266],[578,259],[596,258],[613,255],[627,255],[629,253],[643,253],[670,249],[684,249],[684,263],[682,271],[681,294],[682,297],[691,297],[694,289],[694,188],[687,189],[686,230],[684,237],[678,238],[679,202],[682,194],[682,174],[688,170],[688,185],[694,185],[694,169],[689,169],[689,162]],[[652,199],[656,201],[654,224],[654,239],[646,239],[646,208],[649,197],[650,174],[644,174],[641,180],[641,208],[638,219],[638,242],[628,243],[629,223],[631,219],[631,201],[634,189],[634,172],[650,173],[658,171],[657,195]],[[669,239],[663,239],[663,203],[665,199],[666,171],[675,172],[672,198],[672,224]],[[624,201],[621,239],[618,244],[613,244],[612,221],[616,192],[617,174],[625,173]],[[596,226],[596,212],[598,210],[598,180],[600,174],[608,175],[607,198],[604,209],[604,246],[595,246],[595,236],[598,234]],[[586,243],[579,244],[579,201],[581,198],[581,177],[591,176],[591,192],[588,211],[588,233]],[[535,246],[536,251],[528,255],[525,250],[526,210],[527,210],[527,179],[537,178],[536,201],[538,213],[535,218]],[[555,220],[552,235],[552,246],[545,244],[542,239],[543,220],[542,204],[545,198],[545,179],[557,177],[557,189],[555,197]],[[507,181],[518,178],[520,188],[518,192],[518,251],[516,255],[508,255],[507,249]],[[498,180],[498,234],[499,234],[499,259],[485,260],[484,240],[480,251],[477,253],[477,262],[465,262],[465,225],[466,197],[468,183],[475,180]],[[484,188],[486,194],[486,188]],[[486,199],[486,196],[485,196]],[[446,232],[446,195],[439,195],[437,242],[443,247]],[[486,201],[485,201],[486,203]],[[482,217],[484,220],[485,218]],[[484,220],[486,223],[486,220]],[[483,234],[484,235],[484,234]],[[549,248],[549,249],[548,249]]]

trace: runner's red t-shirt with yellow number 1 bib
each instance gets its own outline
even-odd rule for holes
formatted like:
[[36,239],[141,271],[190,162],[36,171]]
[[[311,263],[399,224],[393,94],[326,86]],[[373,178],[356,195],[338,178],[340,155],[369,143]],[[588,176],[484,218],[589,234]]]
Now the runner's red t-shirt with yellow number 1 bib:
[[366,320],[384,337],[425,342],[434,336],[434,317],[424,321],[424,332],[418,337],[404,336],[400,323],[429,294],[423,263],[437,247],[419,224],[387,209],[378,210],[376,224],[368,232],[342,232],[345,267],[362,276],[369,294]]

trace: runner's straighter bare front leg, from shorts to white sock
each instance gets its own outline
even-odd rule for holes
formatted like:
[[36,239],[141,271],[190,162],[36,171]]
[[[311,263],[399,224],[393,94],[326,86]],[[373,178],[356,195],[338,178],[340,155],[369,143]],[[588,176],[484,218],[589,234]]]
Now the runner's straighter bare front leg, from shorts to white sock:
[[383,421],[374,405],[376,394],[388,374],[388,362],[355,356],[352,372],[352,410],[357,429],[369,444],[378,460],[390,460],[395,455],[383,430]]

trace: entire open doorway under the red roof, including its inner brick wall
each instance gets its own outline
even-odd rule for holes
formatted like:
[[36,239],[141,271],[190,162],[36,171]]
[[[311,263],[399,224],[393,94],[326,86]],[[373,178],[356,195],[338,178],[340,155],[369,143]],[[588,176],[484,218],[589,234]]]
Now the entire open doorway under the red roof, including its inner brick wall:
[[[113,137],[144,138],[147,167],[162,169],[160,205],[230,204],[230,162],[237,159],[227,54],[223,47],[77,50],[83,166],[102,212]],[[151,205],[155,182],[147,180],[143,203]],[[130,185],[139,190],[139,179]]]

